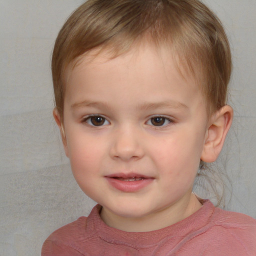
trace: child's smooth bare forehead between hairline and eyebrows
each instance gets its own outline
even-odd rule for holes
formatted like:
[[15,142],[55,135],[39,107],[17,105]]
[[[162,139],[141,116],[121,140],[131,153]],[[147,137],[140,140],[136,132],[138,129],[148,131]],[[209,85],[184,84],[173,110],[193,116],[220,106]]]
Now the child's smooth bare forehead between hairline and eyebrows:
[[70,104],[84,97],[106,101],[107,96],[123,102],[130,97],[132,104],[177,100],[185,105],[191,95],[201,99],[191,73],[181,73],[178,59],[166,47],[140,45],[114,58],[107,51],[96,53],[86,53],[69,69],[65,101]]

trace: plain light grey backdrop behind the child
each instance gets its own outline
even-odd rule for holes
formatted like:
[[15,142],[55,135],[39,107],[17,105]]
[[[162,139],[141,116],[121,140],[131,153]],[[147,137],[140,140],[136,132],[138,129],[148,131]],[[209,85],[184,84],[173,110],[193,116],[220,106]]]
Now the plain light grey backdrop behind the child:
[[[54,40],[82,2],[0,0],[0,256],[40,255],[53,230],[94,205],[72,177],[51,113]],[[222,20],[233,54],[235,116],[219,160],[232,186],[223,207],[255,218],[256,1],[205,2]]]

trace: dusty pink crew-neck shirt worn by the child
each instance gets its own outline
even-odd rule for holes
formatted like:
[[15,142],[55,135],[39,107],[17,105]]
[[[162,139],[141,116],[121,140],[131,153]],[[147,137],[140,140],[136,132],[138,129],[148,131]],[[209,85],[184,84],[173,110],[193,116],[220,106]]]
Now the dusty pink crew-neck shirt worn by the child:
[[150,232],[125,232],[107,226],[96,205],[43,243],[42,256],[100,255],[256,255],[256,220],[215,208],[209,200],[189,217]]

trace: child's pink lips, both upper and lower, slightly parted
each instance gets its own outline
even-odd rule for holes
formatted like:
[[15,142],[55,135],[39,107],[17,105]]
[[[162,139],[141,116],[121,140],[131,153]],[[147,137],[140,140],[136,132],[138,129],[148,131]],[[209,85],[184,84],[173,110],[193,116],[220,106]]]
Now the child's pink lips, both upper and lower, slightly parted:
[[[118,178],[132,178],[132,177],[137,177],[142,179],[134,180],[134,181],[125,181],[125,180],[118,179]],[[134,172],[114,173],[114,174],[105,176],[105,178],[112,187],[123,192],[136,192],[144,188],[145,186],[149,185],[154,180],[153,177],[149,177],[149,176],[139,174],[139,173],[134,173]]]

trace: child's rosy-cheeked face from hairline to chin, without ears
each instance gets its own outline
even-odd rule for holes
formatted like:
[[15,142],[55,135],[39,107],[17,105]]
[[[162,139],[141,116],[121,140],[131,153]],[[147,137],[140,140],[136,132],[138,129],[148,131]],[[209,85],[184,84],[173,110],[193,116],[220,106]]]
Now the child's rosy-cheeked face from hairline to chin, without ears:
[[81,189],[110,218],[179,215],[191,200],[206,108],[171,56],[141,45],[113,59],[84,57],[68,75],[65,152]]

